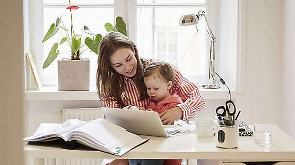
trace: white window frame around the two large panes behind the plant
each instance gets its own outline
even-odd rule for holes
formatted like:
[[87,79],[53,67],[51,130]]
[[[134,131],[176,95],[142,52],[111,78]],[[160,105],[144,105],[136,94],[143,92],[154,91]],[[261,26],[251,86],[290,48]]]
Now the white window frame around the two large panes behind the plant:
[[[29,3],[28,10],[29,12],[29,44],[28,48],[31,50],[31,52],[34,55],[34,59],[36,61],[36,66],[38,68],[38,73],[40,73],[41,81],[44,86],[56,86],[57,84],[57,77],[51,77],[51,76],[44,76],[44,70],[42,69],[43,62],[45,61],[43,52],[44,52],[44,45],[41,42],[43,39],[43,36],[46,32],[43,32],[43,21],[44,21],[44,13],[43,8],[44,7],[67,7],[68,5],[63,4],[43,4],[43,1],[40,0],[27,0]],[[210,25],[210,28],[216,35],[217,31],[215,31],[215,9],[216,9],[216,0],[207,0],[206,4],[136,4],[136,0],[114,0],[114,4],[111,5],[86,5],[86,4],[75,4],[81,7],[114,7],[114,18],[117,16],[122,16],[123,19],[126,22],[127,25],[127,33],[128,37],[136,44],[136,11],[138,7],[206,7],[206,17],[208,19],[208,23]],[[196,13],[193,14],[197,14]],[[188,14],[188,13],[183,13]],[[114,22],[112,22],[114,23]],[[209,37],[206,35],[206,73],[208,73],[208,64],[209,64],[209,57],[208,51],[209,51]],[[205,75],[184,75],[186,78],[188,78],[190,81],[194,83],[198,82],[207,82],[208,81],[208,74]],[[92,76],[93,77],[93,76]],[[91,77],[91,78],[92,78]],[[28,82],[32,82],[28,78]],[[30,83],[30,87],[33,84]]]

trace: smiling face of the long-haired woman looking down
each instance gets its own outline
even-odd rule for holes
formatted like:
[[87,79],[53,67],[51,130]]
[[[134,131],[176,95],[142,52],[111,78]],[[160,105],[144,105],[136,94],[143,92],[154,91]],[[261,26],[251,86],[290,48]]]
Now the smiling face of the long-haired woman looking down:
[[132,78],[136,74],[137,60],[134,51],[120,48],[109,58],[110,65],[117,73]]

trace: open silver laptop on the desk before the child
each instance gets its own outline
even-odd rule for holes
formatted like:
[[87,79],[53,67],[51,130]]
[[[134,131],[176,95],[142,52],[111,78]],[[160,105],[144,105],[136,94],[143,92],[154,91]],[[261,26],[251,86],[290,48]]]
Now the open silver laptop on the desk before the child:
[[134,134],[168,137],[178,132],[171,128],[165,130],[159,114],[154,111],[106,107],[102,110],[108,121]]

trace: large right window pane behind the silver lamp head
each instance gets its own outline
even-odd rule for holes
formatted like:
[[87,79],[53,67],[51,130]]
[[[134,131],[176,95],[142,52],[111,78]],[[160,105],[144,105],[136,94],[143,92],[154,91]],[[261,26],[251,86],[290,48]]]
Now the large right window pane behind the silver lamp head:
[[[183,14],[205,8],[137,8],[137,46],[143,58],[172,62],[183,74],[206,74],[206,27],[180,26]],[[208,41],[209,42],[209,41]],[[169,61],[168,61],[169,60]]]

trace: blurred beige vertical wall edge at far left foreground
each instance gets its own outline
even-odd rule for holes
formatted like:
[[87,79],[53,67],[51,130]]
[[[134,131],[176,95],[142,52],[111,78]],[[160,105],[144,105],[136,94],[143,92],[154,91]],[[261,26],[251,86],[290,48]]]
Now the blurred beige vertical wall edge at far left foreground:
[[0,1],[0,164],[23,164],[23,1]]

